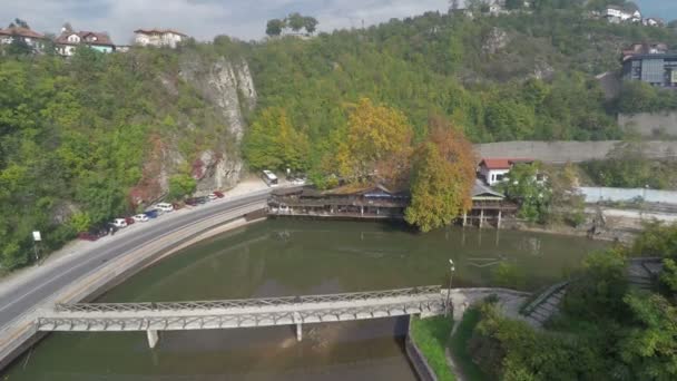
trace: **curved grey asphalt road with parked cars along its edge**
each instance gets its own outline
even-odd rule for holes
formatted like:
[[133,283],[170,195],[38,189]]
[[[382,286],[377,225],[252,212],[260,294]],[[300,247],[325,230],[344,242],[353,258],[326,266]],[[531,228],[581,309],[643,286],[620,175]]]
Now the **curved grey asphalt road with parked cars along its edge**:
[[18,290],[0,296],[0,329],[71,282],[96,271],[104,263],[125,255],[143,244],[178,232],[190,224],[227,213],[241,206],[262,202],[267,198],[269,190],[267,189],[258,190],[230,201],[202,205],[192,211],[176,212],[180,215],[175,218],[163,221],[163,217],[159,217],[157,221],[148,222],[148,224],[151,224],[148,228],[119,232],[120,236],[117,240],[97,247],[92,253],[72,255],[50,265],[43,276],[33,279]]

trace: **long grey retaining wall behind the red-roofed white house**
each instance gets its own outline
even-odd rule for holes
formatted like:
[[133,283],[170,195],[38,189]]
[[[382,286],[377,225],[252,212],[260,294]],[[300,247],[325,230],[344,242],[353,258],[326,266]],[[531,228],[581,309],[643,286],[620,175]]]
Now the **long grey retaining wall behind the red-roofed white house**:
[[[604,141],[501,141],[474,146],[478,158],[528,157],[543,163],[579,163],[602,159],[620,144],[620,140]],[[677,156],[677,141],[645,141],[644,154],[649,158]]]

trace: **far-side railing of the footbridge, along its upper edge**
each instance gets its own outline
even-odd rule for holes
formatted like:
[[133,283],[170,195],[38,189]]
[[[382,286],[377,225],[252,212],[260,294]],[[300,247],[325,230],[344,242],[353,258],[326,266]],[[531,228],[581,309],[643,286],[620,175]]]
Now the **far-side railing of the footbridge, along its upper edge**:
[[440,294],[441,286],[421,286],[398,290],[353,292],[327,295],[282,296],[261,299],[235,299],[223,301],[197,302],[145,302],[145,303],[75,303],[55,306],[57,312],[143,312],[143,311],[179,311],[179,310],[226,310],[246,307],[271,307],[304,303],[355,302],[374,299],[394,299]]

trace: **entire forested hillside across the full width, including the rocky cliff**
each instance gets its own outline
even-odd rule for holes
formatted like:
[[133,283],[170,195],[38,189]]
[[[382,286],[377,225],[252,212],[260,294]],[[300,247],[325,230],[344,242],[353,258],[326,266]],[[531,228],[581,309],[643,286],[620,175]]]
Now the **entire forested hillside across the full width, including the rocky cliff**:
[[[33,229],[49,250],[157,197],[228,187],[241,150],[252,169],[292,168],[317,182],[343,175],[355,157],[381,157],[354,150],[347,135],[360,121],[349,126],[351,115],[396,120],[409,145],[398,149],[411,153],[429,138],[430,120],[472,141],[607,139],[621,136],[615,114],[631,111],[637,97],[660,100],[642,108],[677,106],[650,88],[606,100],[595,79],[619,69],[630,42],[676,47],[671,29],[609,25],[567,1],[537,4],[500,17],[428,13],[310,39],[217,37],[176,50],[85,49],[69,59],[7,50],[0,263],[29,263]],[[380,146],[392,148],[382,121],[374,124],[384,127]]]

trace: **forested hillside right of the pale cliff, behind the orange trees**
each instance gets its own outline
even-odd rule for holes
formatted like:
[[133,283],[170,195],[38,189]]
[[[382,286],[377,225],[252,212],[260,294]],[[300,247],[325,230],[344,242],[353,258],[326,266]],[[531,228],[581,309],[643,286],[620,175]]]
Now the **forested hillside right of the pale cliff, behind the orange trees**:
[[[635,86],[624,91],[628,97],[605,100],[595,76],[620,69],[622,47],[636,41],[675,47],[677,35],[667,28],[610,25],[567,3],[473,19],[431,12],[365,30],[252,46],[261,95],[255,121],[271,126],[265,134],[275,136],[265,120],[271,109],[283,111],[314,149],[303,163],[284,163],[275,159],[268,141],[272,160],[251,164],[317,168],[345,140],[342,127],[360,97],[403,111],[418,139],[433,115],[448,117],[477,143],[619,138],[619,105],[631,111],[632,99],[642,94],[669,96]],[[246,148],[266,149],[256,141]]]

